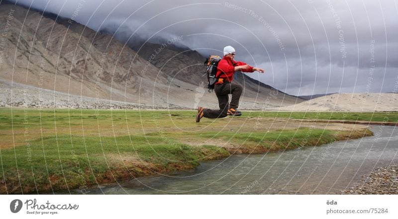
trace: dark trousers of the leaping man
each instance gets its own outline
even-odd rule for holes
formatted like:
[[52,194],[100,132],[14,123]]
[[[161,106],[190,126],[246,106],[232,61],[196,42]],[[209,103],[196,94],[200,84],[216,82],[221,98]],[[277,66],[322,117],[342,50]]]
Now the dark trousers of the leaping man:
[[[226,117],[228,109],[238,108],[239,98],[240,95],[242,95],[242,91],[243,88],[239,84],[232,84],[232,83],[216,84],[214,87],[214,92],[215,95],[217,95],[218,106],[220,107],[220,109],[218,110],[204,109],[203,117],[210,119]],[[228,103],[229,102],[228,94],[232,94],[231,103]]]

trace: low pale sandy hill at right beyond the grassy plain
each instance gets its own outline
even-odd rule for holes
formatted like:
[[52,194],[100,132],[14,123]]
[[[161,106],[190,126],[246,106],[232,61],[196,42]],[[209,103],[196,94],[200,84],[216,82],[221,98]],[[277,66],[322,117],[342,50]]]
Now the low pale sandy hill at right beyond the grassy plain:
[[336,93],[318,97],[289,107],[287,111],[398,111],[397,93]]

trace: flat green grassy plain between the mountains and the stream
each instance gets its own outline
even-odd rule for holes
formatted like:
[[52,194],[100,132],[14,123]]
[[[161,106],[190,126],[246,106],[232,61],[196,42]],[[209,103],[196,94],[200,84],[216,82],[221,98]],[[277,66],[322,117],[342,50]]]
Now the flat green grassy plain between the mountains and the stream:
[[[328,118],[329,114],[321,116]],[[381,119],[384,114],[361,118]],[[236,152],[293,149],[372,135],[363,127],[322,128],[313,126],[314,122],[275,119],[280,116],[316,119],[300,113],[245,112],[241,117],[195,123],[193,111],[3,108],[0,194],[85,192],[92,185],[189,169],[200,161]],[[396,113],[390,116],[397,120]]]

